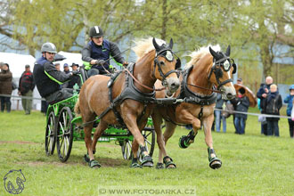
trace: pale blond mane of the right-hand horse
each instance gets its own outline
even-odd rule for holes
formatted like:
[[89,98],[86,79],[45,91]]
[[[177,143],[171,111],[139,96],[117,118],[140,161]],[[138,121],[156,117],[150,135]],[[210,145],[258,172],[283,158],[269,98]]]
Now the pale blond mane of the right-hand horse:
[[186,56],[190,56],[192,59],[184,66],[184,69],[189,69],[192,65],[196,65],[196,62],[199,61],[201,57],[209,53],[209,46],[214,51],[220,51],[219,45],[208,45],[208,46],[200,47],[199,50],[195,50],[192,53],[186,55]]

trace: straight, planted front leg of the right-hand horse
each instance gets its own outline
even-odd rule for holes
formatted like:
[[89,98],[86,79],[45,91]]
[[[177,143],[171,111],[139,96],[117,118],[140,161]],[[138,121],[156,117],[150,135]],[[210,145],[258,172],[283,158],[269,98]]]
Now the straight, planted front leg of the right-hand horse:
[[205,143],[208,146],[208,160],[209,167],[216,169],[222,167],[222,161],[216,157],[216,152],[213,149],[212,145],[212,135],[211,135],[211,127],[213,123],[214,115],[210,115],[207,118],[203,119],[203,127],[204,127],[204,135],[205,135]]

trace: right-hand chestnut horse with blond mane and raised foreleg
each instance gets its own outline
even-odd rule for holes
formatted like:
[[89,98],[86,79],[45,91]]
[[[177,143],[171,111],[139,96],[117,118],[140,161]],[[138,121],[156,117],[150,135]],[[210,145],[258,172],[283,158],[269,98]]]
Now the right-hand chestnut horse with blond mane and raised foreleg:
[[[176,91],[174,97],[182,98],[185,102],[166,107],[157,106],[153,110],[152,120],[159,144],[158,168],[163,168],[163,163],[166,167],[176,167],[173,160],[167,156],[165,149],[167,140],[175,132],[176,125],[192,125],[192,131],[189,135],[180,138],[181,148],[187,148],[190,143],[194,142],[194,137],[200,126],[203,125],[205,142],[208,145],[209,167],[215,169],[222,166],[212,145],[211,126],[216,102],[216,93],[212,92],[221,93],[223,99],[232,99],[235,96],[232,74],[236,72],[236,65],[229,57],[230,46],[228,46],[226,53],[215,52],[210,47],[209,52],[201,48],[200,51],[192,53],[192,60],[188,62],[181,74],[181,88]],[[156,86],[160,86],[160,84],[156,83]],[[213,86],[216,86],[217,90],[213,90]],[[157,98],[164,96],[163,92],[156,94]],[[162,118],[166,123],[164,135],[161,132]]]

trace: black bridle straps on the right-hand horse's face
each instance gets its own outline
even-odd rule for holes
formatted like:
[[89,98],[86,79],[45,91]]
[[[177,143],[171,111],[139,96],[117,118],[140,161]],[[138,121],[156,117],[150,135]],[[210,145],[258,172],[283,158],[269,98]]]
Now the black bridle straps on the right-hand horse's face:
[[[225,55],[224,55],[225,56]],[[233,78],[230,78],[230,79],[227,79],[223,82],[220,82],[219,78],[222,78],[223,77],[223,70],[221,69],[221,66],[223,66],[224,62],[225,61],[230,61],[230,57],[228,56],[225,56],[224,58],[220,59],[220,60],[217,60],[215,61],[215,58],[214,58],[214,63],[209,71],[209,74],[208,74],[208,79],[210,79],[212,73],[215,74],[216,76],[216,82],[217,82],[217,87],[216,89],[219,90],[221,86],[224,86],[226,83],[230,83],[230,82],[233,82]],[[231,66],[230,65],[230,69],[231,69]],[[229,71],[230,69],[226,70]]]

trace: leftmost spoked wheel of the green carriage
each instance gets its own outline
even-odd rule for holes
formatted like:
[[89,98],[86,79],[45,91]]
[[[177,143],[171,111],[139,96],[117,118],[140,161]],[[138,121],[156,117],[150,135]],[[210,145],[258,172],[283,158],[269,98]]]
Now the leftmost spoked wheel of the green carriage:
[[54,112],[51,111],[48,116],[48,121],[46,125],[46,131],[45,131],[45,152],[46,154],[52,155],[54,152],[55,148],[55,127],[56,127],[56,122],[55,122],[55,115]]

